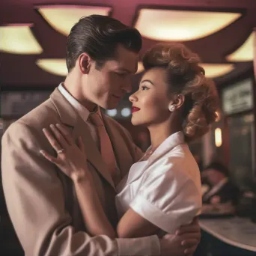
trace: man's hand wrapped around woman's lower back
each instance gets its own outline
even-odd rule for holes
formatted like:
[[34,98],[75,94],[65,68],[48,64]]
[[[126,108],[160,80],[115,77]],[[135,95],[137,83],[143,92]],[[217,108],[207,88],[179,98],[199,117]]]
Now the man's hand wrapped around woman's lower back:
[[198,218],[189,225],[183,225],[175,235],[166,234],[160,240],[161,255],[183,256],[192,255],[201,239]]

